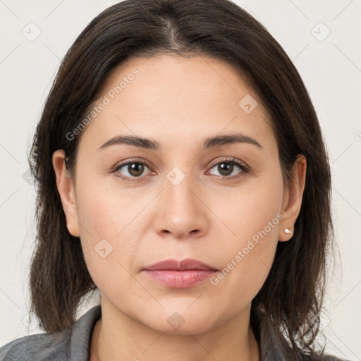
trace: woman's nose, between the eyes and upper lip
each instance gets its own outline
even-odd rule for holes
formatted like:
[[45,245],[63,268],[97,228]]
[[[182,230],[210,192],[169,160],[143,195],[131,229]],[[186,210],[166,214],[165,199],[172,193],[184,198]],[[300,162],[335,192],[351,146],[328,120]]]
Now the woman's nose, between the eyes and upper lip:
[[185,176],[179,184],[164,178],[154,219],[155,231],[163,237],[199,238],[208,232],[208,215],[212,212],[207,208],[204,190],[190,178]]

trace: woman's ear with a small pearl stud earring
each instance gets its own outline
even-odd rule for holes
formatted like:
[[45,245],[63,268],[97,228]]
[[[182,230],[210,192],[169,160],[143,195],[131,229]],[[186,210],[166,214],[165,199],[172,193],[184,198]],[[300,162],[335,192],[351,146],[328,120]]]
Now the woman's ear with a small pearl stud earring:
[[[293,167],[293,177],[290,185],[283,192],[282,214],[283,219],[280,222],[279,240],[284,242],[293,236],[294,224],[300,214],[303,190],[305,189],[306,181],[306,157],[303,154],[298,154]],[[290,233],[284,231],[285,228],[290,230]]]

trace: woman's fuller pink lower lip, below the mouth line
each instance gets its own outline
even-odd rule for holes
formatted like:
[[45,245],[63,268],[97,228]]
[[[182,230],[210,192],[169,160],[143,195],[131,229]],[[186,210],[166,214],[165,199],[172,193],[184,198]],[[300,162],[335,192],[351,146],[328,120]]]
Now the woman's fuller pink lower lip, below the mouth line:
[[166,269],[163,271],[144,270],[145,274],[159,283],[171,288],[189,288],[196,286],[217,271],[213,269],[190,269],[188,271],[172,271]]

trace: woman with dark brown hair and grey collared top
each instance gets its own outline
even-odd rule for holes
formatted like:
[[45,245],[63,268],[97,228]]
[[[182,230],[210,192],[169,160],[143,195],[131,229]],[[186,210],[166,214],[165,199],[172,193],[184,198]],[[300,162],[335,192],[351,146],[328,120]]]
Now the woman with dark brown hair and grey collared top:
[[339,360],[314,345],[334,237],[322,132],[242,8],[107,8],[63,59],[29,161],[46,334],[0,360]]

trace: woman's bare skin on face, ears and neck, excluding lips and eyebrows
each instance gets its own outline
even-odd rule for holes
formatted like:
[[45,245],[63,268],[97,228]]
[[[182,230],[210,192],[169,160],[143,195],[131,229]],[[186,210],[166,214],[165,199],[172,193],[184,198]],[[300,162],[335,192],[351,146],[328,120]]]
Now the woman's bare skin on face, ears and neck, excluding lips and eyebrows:
[[[250,306],[277,243],[293,235],[305,157],[298,157],[293,181],[283,187],[262,102],[226,63],[206,56],[128,59],[106,79],[99,99],[133,68],[140,74],[82,131],[74,178],[65,171],[63,150],[53,154],[68,231],[80,237],[101,293],[102,319],[94,327],[90,360],[259,360]],[[246,94],[258,103],[249,114],[238,105]],[[262,149],[240,142],[201,147],[206,137],[235,132],[255,138]],[[114,135],[147,137],[161,149],[97,150]],[[134,176],[123,166],[111,173],[134,158],[152,169],[145,166]],[[224,158],[243,161],[250,172],[235,165],[229,173],[239,178],[227,179],[217,166]],[[185,176],[178,185],[166,177],[174,166]],[[142,271],[162,259],[188,257],[224,269],[272,219],[278,224],[216,285],[169,288]],[[94,250],[102,239],[113,247],[104,258]],[[184,319],[178,329],[167,322],[173,312]]]

